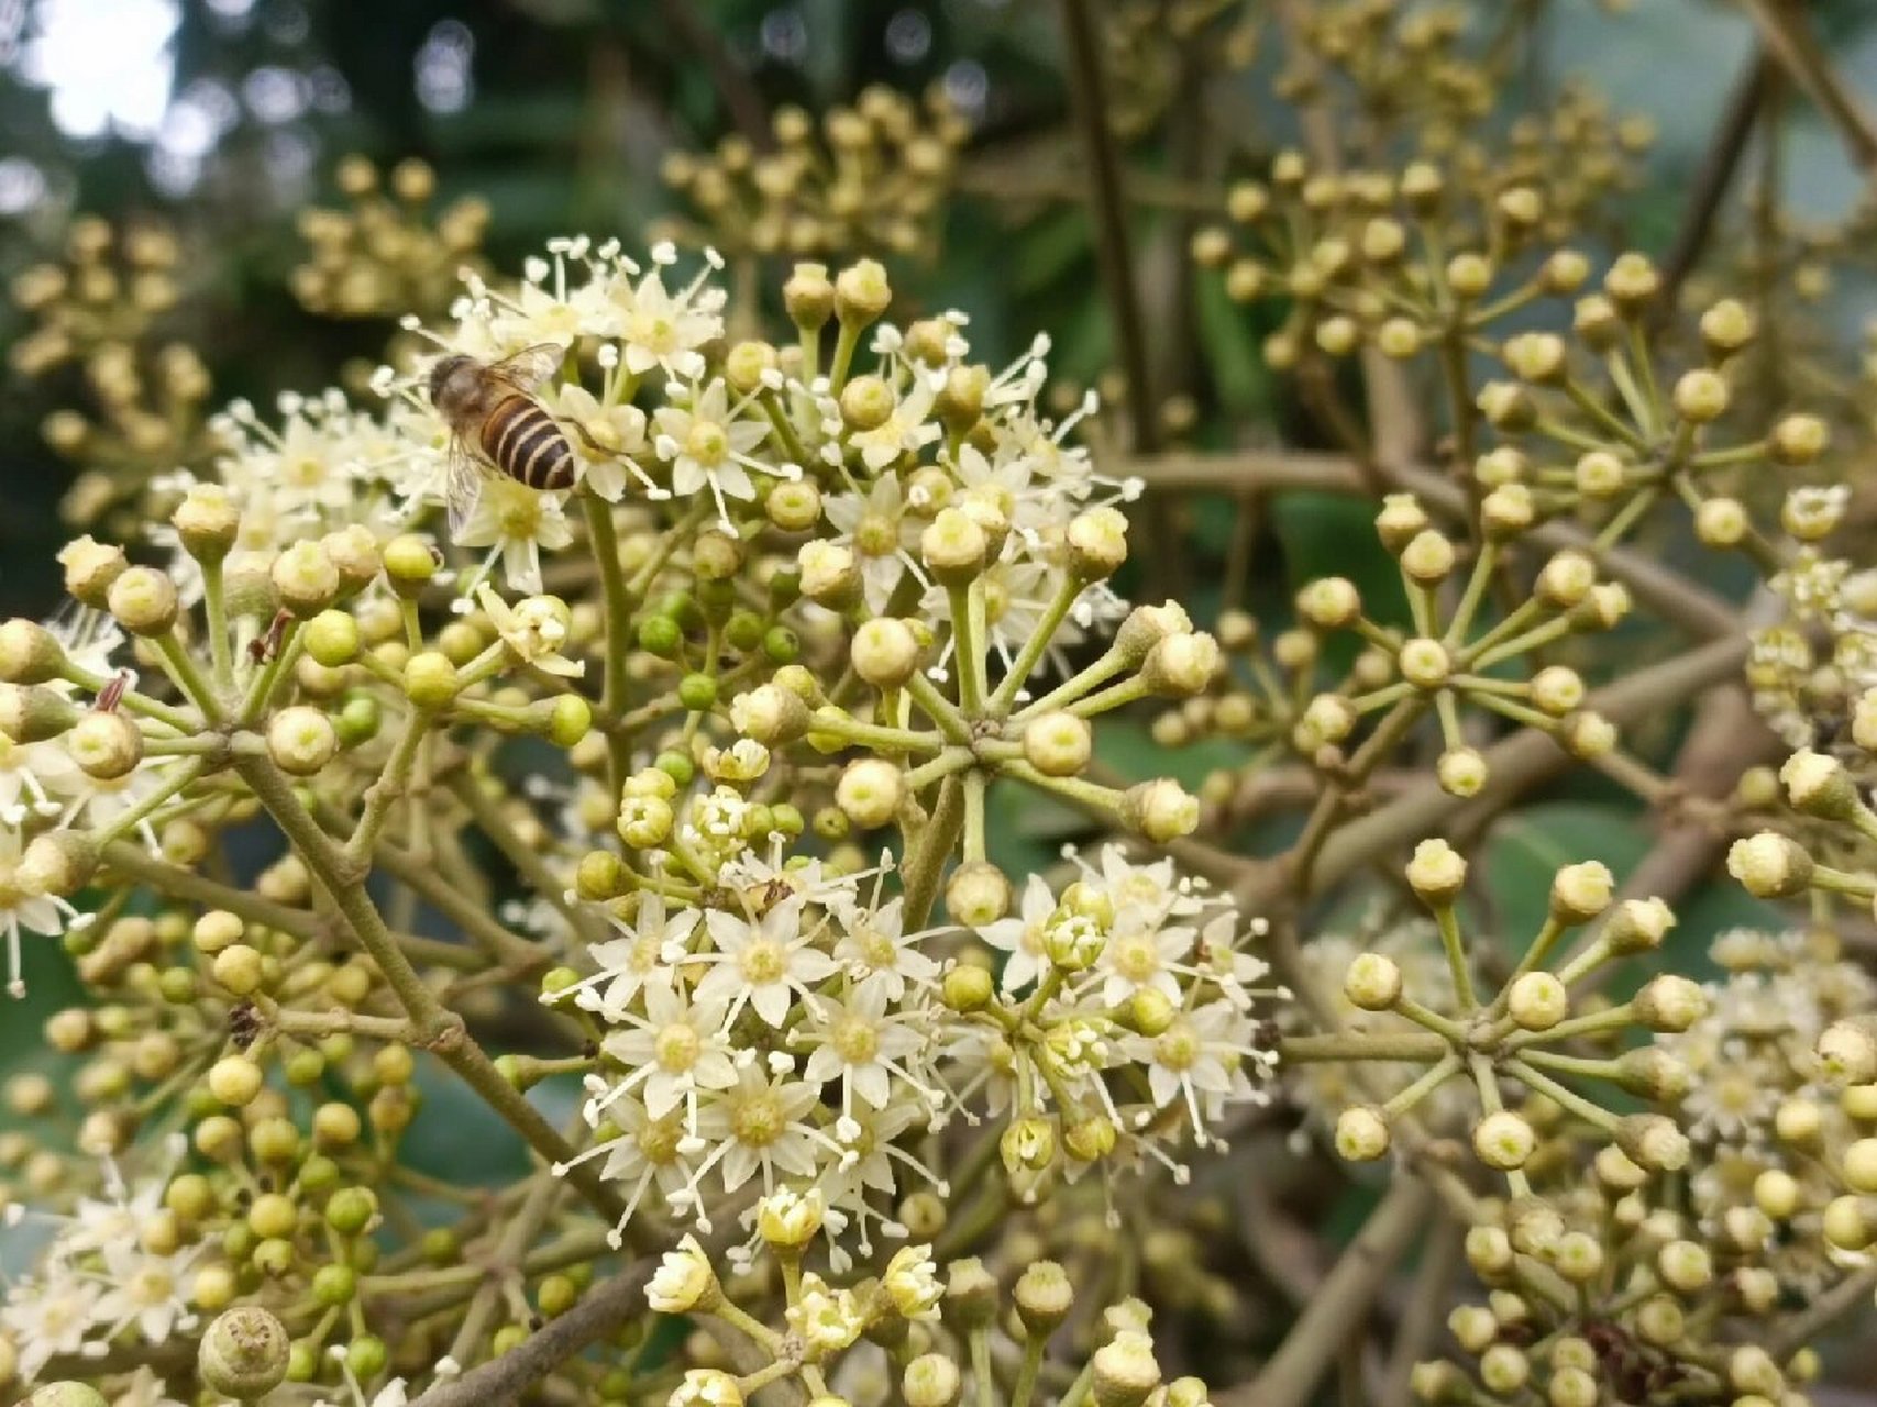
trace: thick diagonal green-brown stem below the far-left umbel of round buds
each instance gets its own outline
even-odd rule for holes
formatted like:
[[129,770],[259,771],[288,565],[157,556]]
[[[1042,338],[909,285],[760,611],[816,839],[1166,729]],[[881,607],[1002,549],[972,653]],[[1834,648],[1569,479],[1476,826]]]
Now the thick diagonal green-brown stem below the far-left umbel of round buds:
[[[298,852],[300,861],[313,876],[315,884],[327,891],[353,938],[372,955],[385,981],[398,994],[398,1002],[409,1013],[422,1036],[422,1045],[434,1051],[450,1069],[454,1069],[469,1088],[501,1118],[514,1127],[542,1157],[567,1165],[574,1150],[541,1116],[541,1111],[527,1103],[512,1084],[482,1054],[467,1028],[454,1011],[449,1011],[411,966],[404,949],[398,947],[385,927],[377,904],[366,893],[366,867],[353,863],[313,820],[312,812],[300,805],[293,786],[282,773],[263,758],[244,758],[235,764],[242,780],[248,782],[255,799],[274,818],[287,840]],[[625,1214],[619,1195],[608,1188],[599,1172],[582,1163],[567,1169],[567,1180],[580,1189],[582,1197],[610,1221]]]

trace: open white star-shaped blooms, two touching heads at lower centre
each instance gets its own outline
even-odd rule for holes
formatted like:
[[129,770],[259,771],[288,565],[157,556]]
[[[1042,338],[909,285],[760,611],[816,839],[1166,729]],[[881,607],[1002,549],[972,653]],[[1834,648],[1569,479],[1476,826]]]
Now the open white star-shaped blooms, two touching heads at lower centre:
[[1162,1144],[1218,1144],[1233,1105],[1265,1099],[1265,964],[1239,951],[1229,900],[1169,861],[1111,846],[1077,865],[1062,893],[1032,878],[1023,915],[980,930],[1010,953],[1000,985],[957,961],[959,930],[907,930],[903,900],[882,899],[892,857],[835,874],[743,850],[698,902],[666,899],[689,885],[655,872],[629,919],[608,910],[619,936],[589,949],[597,970],[544,998],[610,1028],[584,1159],[625,1184],[627,1218],[657,1191],[700,1229],[711,1182],[813,1191],[862,1251],[869,1221],[905,1234],[878,1199],[944,1193],[942,1148],[923,1161],[901,1144],[954,1116],[1002,1120],[1029,1189],[1117,1152],[1184,1180]]

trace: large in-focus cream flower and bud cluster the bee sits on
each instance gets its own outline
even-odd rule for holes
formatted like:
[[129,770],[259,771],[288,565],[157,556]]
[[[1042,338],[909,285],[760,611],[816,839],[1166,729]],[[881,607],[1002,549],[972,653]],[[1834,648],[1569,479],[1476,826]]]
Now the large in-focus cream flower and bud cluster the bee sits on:
[[[867,263],[798,266],[796,340],[728,343],[713,266],[674,259],[556,244],[512,291],[471,278],[381,411],[231,407],[214,478],[165,480],[133,544],[161,565],[79,538],[73,606],[0,627],[9,989],[62,938],[109,1002],[47,1028],[83,1060],[99,1191],[43,1221],[0,1308],[19,1381],[150,1373],[206,1334],[199,1381],[235,1392],[212,1360],[244,1311],[276,1381],[449,1377],[526,1332],[494,1281],[402,1293],[456,1248],[533,1255],[559,1227],[524,1272],[563,1272],[544,1311],[681,1227],[743,1263],[796,1203],[832,1272],[897,1266],[948,1199],[1184,1184],[1267,1099],[1280,992],[1229,897],[1119,840],[1021,889],[989,861],[993,784],[1190,831],[1175,782],[1085,771],[1104,713],[1218,662],[1179,606],[1109,589],[1132,488],[1038,415],[1044,343],[993,370],[955,315],[882,323]],[[428,364],[542,345],[576,482],[488,467],[445,522],[462,465]],[[248,833],[276,855],[210,863]],[[518,981],[539,1000],[503,1000]],[[471,1019],[503,1011],[533,1034],[496,1060]],[[396,1171],[430,1058],[546,1167],[486,1227],[385,1251],[435,1191]],[[565,1133],[522,1096],[550,1079]],[[41,1079],[13,1101],[62,1103]],[[49,1152],[8,1154],[51,1191]],[[801,1294],[805,1373],[875,1332],[865,1293]]]

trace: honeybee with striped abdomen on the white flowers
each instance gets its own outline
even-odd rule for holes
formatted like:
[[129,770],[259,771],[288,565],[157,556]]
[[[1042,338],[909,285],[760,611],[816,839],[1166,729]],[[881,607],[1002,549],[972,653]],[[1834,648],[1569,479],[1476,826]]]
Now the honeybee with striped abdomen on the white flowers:
[[537,398],[567,351],[552,341],[499,362],[454,353],[430,368],[430,403],[450,428],[449,516],[462,529],[482,490],[482,465],[533,490],[574,486],[574,448]]

